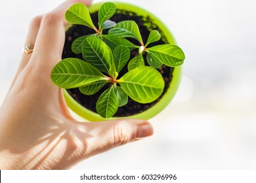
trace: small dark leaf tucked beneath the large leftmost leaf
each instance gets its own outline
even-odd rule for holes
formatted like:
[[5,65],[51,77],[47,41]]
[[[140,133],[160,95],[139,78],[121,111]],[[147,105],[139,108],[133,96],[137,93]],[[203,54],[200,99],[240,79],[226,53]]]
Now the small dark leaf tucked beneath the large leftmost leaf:
[[79,87],[79,91],[85,95],[93,95],[97,93],[107,83],[108,83],[108,80],[100,80],[100,81],[93,82],[91,84],[87,84],[85,86]]

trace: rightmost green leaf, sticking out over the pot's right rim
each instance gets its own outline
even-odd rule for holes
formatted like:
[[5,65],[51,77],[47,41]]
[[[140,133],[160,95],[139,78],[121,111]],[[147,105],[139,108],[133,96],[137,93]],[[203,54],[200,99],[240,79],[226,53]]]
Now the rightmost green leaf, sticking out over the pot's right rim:
[[185,55],[179,46],[173,44],[162,44],[153,46],[146,50],[155,61],[161,62],[169,67],[181,65]]

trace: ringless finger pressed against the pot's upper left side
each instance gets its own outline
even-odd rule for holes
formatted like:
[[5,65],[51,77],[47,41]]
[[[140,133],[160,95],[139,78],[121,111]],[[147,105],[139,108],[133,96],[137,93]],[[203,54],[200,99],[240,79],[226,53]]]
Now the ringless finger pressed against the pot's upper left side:
[[67,0],[53,11],[45,14],[35,41],[31,61],[32,65],[51,71],[60,61],[65,41],[65,12],[74,3],[91,4],[91,0]]

